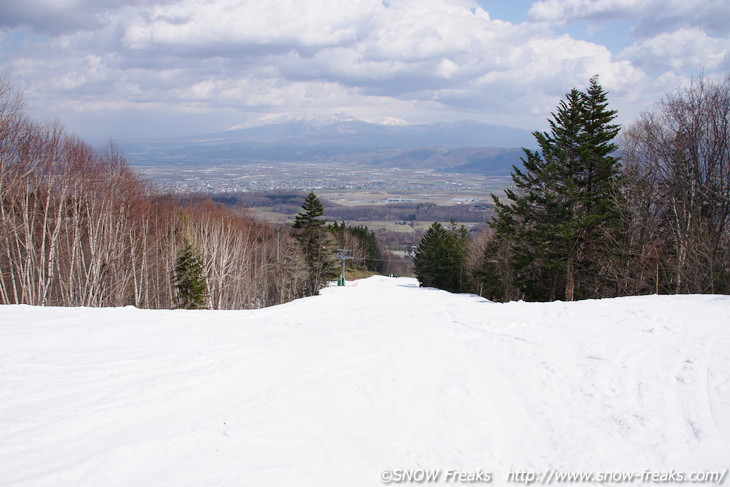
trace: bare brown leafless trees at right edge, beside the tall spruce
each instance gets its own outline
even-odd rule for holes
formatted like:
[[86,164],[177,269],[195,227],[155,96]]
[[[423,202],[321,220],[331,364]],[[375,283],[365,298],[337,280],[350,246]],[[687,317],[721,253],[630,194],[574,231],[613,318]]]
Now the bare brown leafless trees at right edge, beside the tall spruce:
[[727,292],[730,78],[667,95],[624,134],[622,151],[637,279],[656,292]]

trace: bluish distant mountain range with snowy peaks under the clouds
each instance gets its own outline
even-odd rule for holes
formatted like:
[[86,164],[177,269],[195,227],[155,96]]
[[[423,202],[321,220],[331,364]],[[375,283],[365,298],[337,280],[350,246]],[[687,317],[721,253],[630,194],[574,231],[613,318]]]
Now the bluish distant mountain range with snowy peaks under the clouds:
[[201,137],[128,139],[121,145],[140,166],[357,162],[504,175],[519,164],[519,147],[534,146],[534,139],[526,130],[475,121],[407,125],[334,114],[266,118]]

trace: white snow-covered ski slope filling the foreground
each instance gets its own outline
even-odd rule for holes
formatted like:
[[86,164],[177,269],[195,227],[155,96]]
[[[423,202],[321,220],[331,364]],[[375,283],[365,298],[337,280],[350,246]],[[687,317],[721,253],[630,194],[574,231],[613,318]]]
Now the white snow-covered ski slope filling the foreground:
[[722,470],[728,350],[729,296],[496,304],[373,277],[255,311],[2,306],[0,483]]

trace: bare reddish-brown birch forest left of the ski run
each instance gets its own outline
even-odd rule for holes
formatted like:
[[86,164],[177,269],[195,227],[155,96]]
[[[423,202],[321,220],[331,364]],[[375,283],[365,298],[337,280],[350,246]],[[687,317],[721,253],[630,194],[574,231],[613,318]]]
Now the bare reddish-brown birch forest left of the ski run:
[[[195,307],[260,308],[311,293],[292,228],[209,198],[158,194],[113,143],[97,149],[57,122],[31,120],[4,82],[0,202],[0,304],[180,307],[175,270],[186,248],[205,281]],[[372,243],[358,232],[368,238],[339,231],[340,240],[365,265]]]

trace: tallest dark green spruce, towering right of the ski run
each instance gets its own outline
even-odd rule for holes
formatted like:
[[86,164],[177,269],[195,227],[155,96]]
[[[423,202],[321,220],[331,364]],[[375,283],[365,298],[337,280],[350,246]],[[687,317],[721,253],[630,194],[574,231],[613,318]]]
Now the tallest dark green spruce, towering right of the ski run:
[[492,195],[496,216],[490,225],[510,243],[514,283],[525,299],[611,293],[601,263],[620,232],[620,166],[612,156],[616,112],[607,107],[597,77],[586,92],[568,92],[548,121],[550,131],[533,133],[540,150],[523,149],[524,168],[513,168],[516,190],[506,191],[508,202]]

